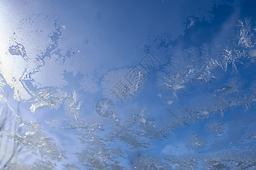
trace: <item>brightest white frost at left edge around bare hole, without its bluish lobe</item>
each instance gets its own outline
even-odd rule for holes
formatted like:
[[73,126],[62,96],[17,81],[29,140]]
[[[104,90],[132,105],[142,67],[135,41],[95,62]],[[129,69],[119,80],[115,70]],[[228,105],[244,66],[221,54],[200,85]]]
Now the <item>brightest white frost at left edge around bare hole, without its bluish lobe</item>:
[[[56,31],[55,20],[46,15],[32,15],[29,19],[21,20],[18,29],[17,25],[10,23],[12,20],[3,22],[1,25],[5,27],[1,30],[5,32],[1,35],[0,71],[7,84],[14,88],[14,98],[28,100],[31,96],[20,80],[29,79],[30,73],[42,65],[38,56],[53,44],[49,36]],[[22,56],[9,53],[9,47],[17,43],[24,46]]]

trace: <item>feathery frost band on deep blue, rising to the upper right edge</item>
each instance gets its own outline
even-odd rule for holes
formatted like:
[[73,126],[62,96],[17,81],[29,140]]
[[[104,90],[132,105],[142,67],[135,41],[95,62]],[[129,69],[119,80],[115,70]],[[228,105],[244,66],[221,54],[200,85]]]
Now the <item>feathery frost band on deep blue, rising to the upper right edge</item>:
[[[243,63],[243,60],[246,61],[249,57],[247,52],[253,48],[251,38],[254,37],[250,19],[240,20],[239,23],[240,29],[237,30],[240,32],[239,36],[236,36],[236,28],[225,32],[226,37],[233,37],[231,40],[217,37],[215,41],[203,44],[200,49],[192,47],[176,50],[165,66],[165,71],[158,74],[159,87],[170,89],[175,93],[176,90],[191,85],[195,80],[210,83],[218,78],[214,75],[217,69],[226,71],[228,66],[232,65],[233,71],[237,71],[236,65]],[[237,45],[236,41],[238,41]]]

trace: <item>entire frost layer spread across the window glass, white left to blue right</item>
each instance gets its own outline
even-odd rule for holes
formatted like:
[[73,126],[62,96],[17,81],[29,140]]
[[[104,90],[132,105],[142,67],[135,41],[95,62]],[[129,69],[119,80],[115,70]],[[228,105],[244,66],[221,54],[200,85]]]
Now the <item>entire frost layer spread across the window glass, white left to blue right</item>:
[[[204,6],[204,3],[201,4]],[[197,15],[183,16],[183,22],[187,20],[184,28],[192,30],[202,22],[203,17]],[[204,16],[205,20],[213,20],[210,12]],[[159,92],[154,93],[163,108],[152,111],[157,112],[155,115],[150,114],[153,104],[116,109],[107,116],[100,114],[102,117],[94,112],[99,108],[96,104],[93,111],[85,113],[84,108],[90,104],[80,100],[80,89],[74,90],[72,87],[73,92],[62,90],[71,83],[64,75],[73,72],[72,78],[75,78],[81,74],[80,88],[85,92],[99,91],[97,83],[101,79],[96,76],[96,70],[91,75],[80,73],[76,65],[72,65],[75,59],[72,53],[81,51],[59,47],[60,40],[65,38],[61,37],[63,29],[66,29],[65,25],[60,27],[56,18],[44,14],[22,19],[15,32],[11,33],[9,41],[2,43],[5,46],[0,55],[0,71],[3,76],[0,77],[0,92],[3,92],[5,84],[9,84],[14,88],[14,99],[32,103],[32,113],[43,107],[63,109],[61,116],[45,122],[60,133],[65,131],[74,134],[73,141],[80,142],[79,149],[74,151],[80,165],[88,169],[125,169],[123,162],[128,162],[130,169],[256,168],[255,124],[252,121],[255,116],[247,116],[251,119],[245,121],[249,122],[248,125],[242,122],[242,118],[232,120],[233,114],[242,117],[249,114],[251,108],[255,111],[255,79],[246,82],[246,75],[242,74],[243,69],[255,65],[256,29],[251,18],[240,19],[236,25],[225,27],[214,39],[185,49],[179,48],[179,45],[173,48],[172,42],[168,41],[174,40],[177,34],[184,35],[180,31],[183,29],[175,32],[174,36],[152,36],[155,48],[163,48],[166,52],[164,55],[167,62],[157,74],[156,83],[160,88]],[[142,49],[151,54],[148,52],[154,48],[151,44],[145,44]],[[139,64],[144,71],[138,69],[137,65],[107,72],[101,80],[104,97],[112,97],[121,102],[135,99],[143,88],[150,86],[145,81],[146,73],[152,74],[150,66],[155,67],[155,62],[151,61],[152,65],[147,65],[149,61],[141,61]],[[162,65],[159,61],[156,63],[158,67]],[[227,76],[221,77],[223,73]],[[241,77],[237,73],[241,73]],[[29,88],[28,85],[33,87]],[[33,91],[33,88],[36,90]],[[197,90],[194,94],[191,92],[195,90],[193,88]],[[67,153],[59,148],[51,135],[40,128],[42,123],[23,120],[10,107],[4,95],[0,94],[0,100],[0,168],[59,168],[57,164],[62,163]],[[163,118],[159,119],[158,116]],[[214,117],[219,117],[221,121],[212,121]],[[166,155],[164,159],[151,154],[154,152],[150,150],[154,142],[172,139],[172,135],[189,131],[192,126],[199,124],[205,131],[189,133],[183,139],[184,150],[192,154]],[[229,137],[234,135],[232,130],[241,134],[240,138],[231,141]],[[203,137],[204,133],[210,140]],[[228,150],[222,151],[220,143],[228,145]],[[2,151],[10,154],[3,155]],[[24,154],[21,151],[32,155],[35,161],[30,165],[15,162],[19,154]],[[63,166],[66,169],[79,169],[76,164]]]

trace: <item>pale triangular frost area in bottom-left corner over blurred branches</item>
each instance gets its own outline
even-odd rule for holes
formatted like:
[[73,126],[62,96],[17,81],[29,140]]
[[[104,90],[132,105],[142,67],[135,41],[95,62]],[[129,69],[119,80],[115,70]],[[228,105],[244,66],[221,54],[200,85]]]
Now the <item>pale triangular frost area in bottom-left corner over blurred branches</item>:
[[[24,169],[33,169],[38,167],[43,169],[48,167],[48,169],[52,169],[56,166],[54,162],[60,162],[65,158],[65,151],[59,150],[55,139],[47,137],[38,123],[24,121],[19,114],[14,112],[6,99],[1,100],[1,103],[6,106],[5,114],[1,114],[3,117],[1,117],[0,122],[1,154],[2,151],[5,153],[1,156],[1,168],[24,167]],[[3,107],[1,113],[2,111]],[[7,152],[10,154],[6,155]],[[15,162],[19,158],[18,156],[22,155],[26,158],[28,155],[31,157],[31,154],[34,154],[35,158],[36,155],[39,155],[41,159],[36,160],[34,165]]]

